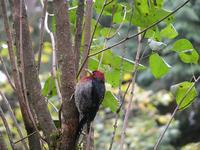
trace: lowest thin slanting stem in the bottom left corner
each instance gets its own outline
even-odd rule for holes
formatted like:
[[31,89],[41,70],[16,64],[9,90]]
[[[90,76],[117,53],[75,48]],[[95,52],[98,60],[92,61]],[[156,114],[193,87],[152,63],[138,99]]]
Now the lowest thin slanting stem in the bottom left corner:
[[15,144],[13,142],[12,132],[11,132],[11,130],[9,128],[8,122],[6,120],[6,117],[5,117],[4,112],[3,112],[1,107],[0,107],[0,117],[1,117],[1,119],[3,121],[3,124],[4,124],[5,128],[6,128],[6,133],[8,135],[8,139],[9,139],[10,145],[11,145],[13,150],[16,150]]

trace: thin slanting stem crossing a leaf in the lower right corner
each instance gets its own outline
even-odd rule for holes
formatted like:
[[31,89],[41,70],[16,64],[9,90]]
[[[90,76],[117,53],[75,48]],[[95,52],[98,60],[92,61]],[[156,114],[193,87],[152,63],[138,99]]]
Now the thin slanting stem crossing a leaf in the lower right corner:
[[176,108],[174,109],[172,116],[169,120],[169,122],[167,123],[164,131],[161,133],[161,135],[159,136],[156,144],[154,145],[154,150],[158,149],[159,144],[162,142],[162,139],[167,131],[167,129],[169,128],[172,120],[174,119],[175,114],[177,113],[177,111],[179,110],[179,106],[183,103],[183,101],[185,100],[185,98],[187,97],[188,93],[193,89],[193,87],[195,86],[195,84],[200,80],[200,76],[195,80],[195,82],[191,85],[191,87],[186,91],[185,95],[183,96],[183,98],[181,99],[180,103],[176,106]]

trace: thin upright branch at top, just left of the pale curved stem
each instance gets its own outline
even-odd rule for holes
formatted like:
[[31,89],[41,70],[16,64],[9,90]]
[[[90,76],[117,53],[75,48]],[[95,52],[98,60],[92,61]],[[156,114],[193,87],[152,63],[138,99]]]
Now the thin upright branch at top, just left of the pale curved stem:
[[43,6],[43,12],[42,12],[42,17],[41,17],[41,28],[40,28],[40,46],[38,50],[38,73],[40,71],[40,63],[41,63],[41,56],[42,56],[42,48],[43,48],[43,41],[44,41],[44,22],[45,22],[45,16],[47,12],[47,3],[48,0],[44,0],[44,6]]

